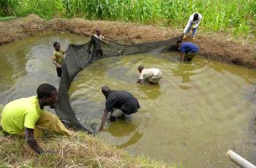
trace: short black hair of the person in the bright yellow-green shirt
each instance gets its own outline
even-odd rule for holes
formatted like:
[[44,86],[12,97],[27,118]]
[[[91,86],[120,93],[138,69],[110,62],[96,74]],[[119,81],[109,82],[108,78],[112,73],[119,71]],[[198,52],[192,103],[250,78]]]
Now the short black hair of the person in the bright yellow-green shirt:
[[50,97],[52,96],[52,91],[57,91],[57,89],[48,83],[42,83],[37,88],[37,97],[38,99],[42,99],[43,97]]

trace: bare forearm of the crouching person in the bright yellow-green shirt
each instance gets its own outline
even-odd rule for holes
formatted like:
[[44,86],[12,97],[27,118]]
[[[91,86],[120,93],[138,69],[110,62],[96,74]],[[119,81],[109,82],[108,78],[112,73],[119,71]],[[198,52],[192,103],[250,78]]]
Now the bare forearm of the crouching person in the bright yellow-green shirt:
[[25,127],[25,137],[26,142],[29,144],[29,146],[38,154],[42,154],[43,150],[39,145],[37,144],[37,141],[34,140],[34,129],[28,129]]

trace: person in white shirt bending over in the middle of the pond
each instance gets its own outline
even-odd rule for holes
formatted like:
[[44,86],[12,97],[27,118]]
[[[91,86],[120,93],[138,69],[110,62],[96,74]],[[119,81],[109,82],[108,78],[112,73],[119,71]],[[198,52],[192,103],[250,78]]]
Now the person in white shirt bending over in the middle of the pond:
[[140,83],[141,80],[148,80],[151,83],[159,83],[159,80],[162,78],[162,71],[156,68],[146,69],[144,66],[140,65],[138,67],[140,72],[140,79],[137,83]]

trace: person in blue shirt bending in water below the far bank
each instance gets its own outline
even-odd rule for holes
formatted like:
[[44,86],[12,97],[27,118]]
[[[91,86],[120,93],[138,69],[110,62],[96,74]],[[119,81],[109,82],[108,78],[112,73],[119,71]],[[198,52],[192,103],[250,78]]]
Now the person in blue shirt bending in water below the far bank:
[[199,47],[192,42],[182,42],[182,40],[178,40],[176,45],[181,52],[179,61],[191,61],[192,58],[199,53]]

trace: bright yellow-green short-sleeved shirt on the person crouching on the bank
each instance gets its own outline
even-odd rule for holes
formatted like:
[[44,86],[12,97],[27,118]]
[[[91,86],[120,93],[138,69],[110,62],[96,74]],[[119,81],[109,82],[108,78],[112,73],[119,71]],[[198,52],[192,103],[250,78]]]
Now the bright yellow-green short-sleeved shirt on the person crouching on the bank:
[[24,130],[24,126],[34,129],[42,111],[37,96],[14,100],[5,106],[1,113],[1,126],[9,134],[19,134]]

